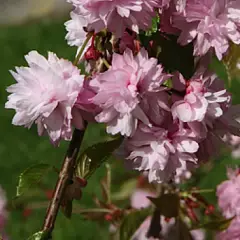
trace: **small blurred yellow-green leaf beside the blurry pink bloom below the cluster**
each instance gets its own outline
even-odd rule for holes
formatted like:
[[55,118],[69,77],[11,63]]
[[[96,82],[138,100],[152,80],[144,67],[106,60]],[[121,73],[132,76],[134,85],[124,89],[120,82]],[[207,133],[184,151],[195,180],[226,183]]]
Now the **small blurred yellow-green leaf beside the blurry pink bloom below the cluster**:
[[123,183],[120,191],[112,194],[112,200],[121,201],[132,195],[133,189],[137,186],[137,179],[132,178]]

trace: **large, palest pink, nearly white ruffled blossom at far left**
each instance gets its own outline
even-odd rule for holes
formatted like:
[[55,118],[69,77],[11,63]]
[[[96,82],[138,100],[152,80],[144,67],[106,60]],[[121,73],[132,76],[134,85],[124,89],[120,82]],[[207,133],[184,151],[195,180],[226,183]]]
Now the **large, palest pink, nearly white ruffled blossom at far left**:
[[[83,88],[84,76],[71,62],[49,53],[48,59],[36,51],[26,55],[29,67],[11,71],[17,81],[7,88],[12,93],[6,108],[15,109],[14,125],[30,128],[35,122],[39,135],[47,132],[50,140],[58,144],[72,136],[72,109]],[[83,127],[80,115],[78,127]]]

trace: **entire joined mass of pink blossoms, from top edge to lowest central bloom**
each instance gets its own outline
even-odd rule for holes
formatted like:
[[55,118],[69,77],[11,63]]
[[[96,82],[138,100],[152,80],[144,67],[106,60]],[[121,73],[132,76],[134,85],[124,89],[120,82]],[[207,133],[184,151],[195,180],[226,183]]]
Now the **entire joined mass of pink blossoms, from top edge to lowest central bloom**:
[[[127,165],[147,172],[150,182],[189,178],[218,152],[219,143],[231,144],[229,136],[240,135],[240,107],[232,106],[230,93],[206,60],[213,53],[221,59],[231,43],[240,44],[239,1],[68,2],[74,10],[65,24],[66,39],[79,47],[77,60],[86,63],[88,76],[76,66],[79,62],[30,52],[29,66],[11,72],[17,83],[7,89],[6,108],[16,111],[14,125],[36,123],[39,135],[48,134],[59,145],[71,139],[73,127],[105,123],[109,134],[124,137]],[[193,44],[196,65],[190,78],[168,71],[142,46],[138,34],[151,28],[156,16],[157,33]],[[102,51],[97,39],[106,32],[111,47]]]

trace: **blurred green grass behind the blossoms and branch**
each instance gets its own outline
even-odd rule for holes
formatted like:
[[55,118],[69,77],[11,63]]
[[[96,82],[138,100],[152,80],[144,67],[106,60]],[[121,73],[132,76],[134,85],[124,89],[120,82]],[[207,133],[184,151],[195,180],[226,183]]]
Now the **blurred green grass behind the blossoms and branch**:
[[[67,149],[67,143],[61,143],[59,148],[54,148],[47,137],[38,137],[36,129],[30,130],[22,127],[16,127],[11,124],[14,112],[4,109],[7,99],[6,87],[14,83],[14,79],[9,73],[9,69],[14,66],[26,65],[24,55],[31,50],[37,50],[43,55],[47,51],[57,53],[59,57],[74,59],[76,48],[70,48],[65,38],[65,28],[63,23],[67,19],[31,21],[18,26],[0,27],[0,76],[1,76],[1,94],[0,94],[0,184],[6,190],[8,199],[12,199],[16,193],[18,177],[30,165],[35,163],[51,163],[60,168],[62,159]],[[213,67],[218,74],[227,80],[227,75],[222,65],[215,62]],[[234,79],[231,84],[231,90],[234,93],[234,102],[240,101],[239,83]],[[99,139],[98,133],[92,131],[89,134],[91,139]],[[215,187],[216,184],[224,180],[225,166],[234,166],[239,164],[239,160],[231,159],[228,154],[224,154],[216,159],[214,167],[210,167],[209,174],[200,174],[198,185],[203,188]],[[116,170],[116,172],[119,170]],[[83,199],[80,205],[92,206],[92,195],[100,194],[99,180],[104,175],[103,170],[98,170],[91,177],[88,186],[84,189]],[[55,185],[56,176],[44,179],[49,189]],[[118,186],[115,186],[117,189]],[[209,196],[214,201],[214,194]],[[41,200],[46,201],[45,193],[42,192]],[[34,209],[26,217],[22,210],[10,212],[7,225],[7,233],[10,239],[27,239],[31,234],[41,229],[46,206]],[[62,213],[59,214],[53,239],[108,239],[108,227],[105,224],[83,220],[78,214],[73,214],[71,220],[66,219]]]

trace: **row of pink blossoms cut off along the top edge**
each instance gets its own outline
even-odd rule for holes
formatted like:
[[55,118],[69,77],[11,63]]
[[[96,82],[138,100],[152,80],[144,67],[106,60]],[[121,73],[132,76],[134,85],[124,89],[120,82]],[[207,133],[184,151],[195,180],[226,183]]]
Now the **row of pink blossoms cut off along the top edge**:
[[194,42],[194,54],[214,50],[222,59],[230,42],[240,44],[240,3],[237,0],[68,0],[75,7],[66,23],[70,45],[81,45],[87,31],[107,28],[116,37],[126,28],[138,33],[151,26],[157,13],[160,31],[176,34],[182,45]]

